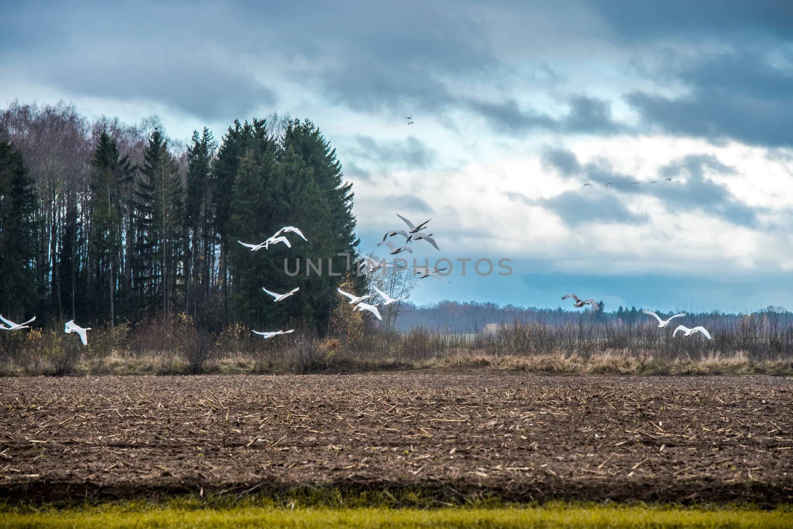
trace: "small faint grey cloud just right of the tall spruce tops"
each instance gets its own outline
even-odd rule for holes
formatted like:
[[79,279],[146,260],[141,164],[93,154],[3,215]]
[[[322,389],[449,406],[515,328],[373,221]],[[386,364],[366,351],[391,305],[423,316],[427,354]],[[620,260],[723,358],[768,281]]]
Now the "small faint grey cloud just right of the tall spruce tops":
[[408,136],[404,140],[378,141],[371,136],[358,135],[347,153],[354,158],[375,162],[383,169],[393,167],[404,169],[427,169],[437,157],[435,150]]

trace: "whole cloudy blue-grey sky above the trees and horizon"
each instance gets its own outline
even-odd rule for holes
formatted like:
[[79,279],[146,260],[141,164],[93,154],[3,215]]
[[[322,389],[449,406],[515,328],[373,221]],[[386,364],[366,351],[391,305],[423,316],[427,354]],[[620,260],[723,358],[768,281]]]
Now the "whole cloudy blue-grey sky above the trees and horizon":
[[221,4],[6,7],[0,105],[155,113],[185,140],[309,118],[364,249],[399,212],[432,219],[419,261],[511,259],[455,261],[417,303],[793,308],[793,3]]

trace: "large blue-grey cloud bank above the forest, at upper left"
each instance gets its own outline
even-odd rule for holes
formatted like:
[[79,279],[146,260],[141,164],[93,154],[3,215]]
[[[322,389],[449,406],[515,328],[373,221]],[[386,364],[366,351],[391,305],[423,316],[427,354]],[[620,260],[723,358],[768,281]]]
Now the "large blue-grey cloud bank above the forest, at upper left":
[[25,57],[13,63],[17,54],[5,54],[0,67],[13,63],[71,97],[135,97],[231,120],[274,104],[268,77],[314,86],[348,108],[413,112],[452,104],[441,78],[498,65],[475,10],[450,2],[343,7],[30,2],[9,13],[10,31],[0,36]]

